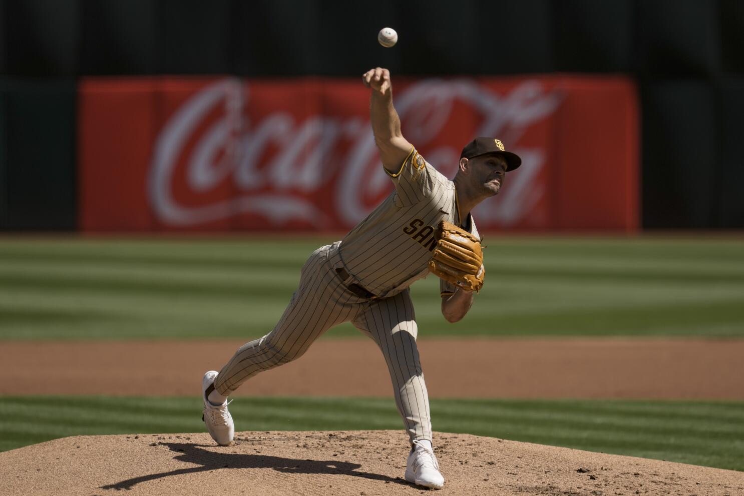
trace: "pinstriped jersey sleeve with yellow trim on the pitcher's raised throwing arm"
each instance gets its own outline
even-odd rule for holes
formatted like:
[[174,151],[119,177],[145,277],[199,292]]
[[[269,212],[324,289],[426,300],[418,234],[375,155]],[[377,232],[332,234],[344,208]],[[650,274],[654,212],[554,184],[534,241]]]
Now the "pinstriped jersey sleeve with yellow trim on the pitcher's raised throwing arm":
[[447,178],[424,160],[414,146],[397,172],[385,169],[385,173],[393,180],[400,204],[404,205],[434,196],[447,182]]

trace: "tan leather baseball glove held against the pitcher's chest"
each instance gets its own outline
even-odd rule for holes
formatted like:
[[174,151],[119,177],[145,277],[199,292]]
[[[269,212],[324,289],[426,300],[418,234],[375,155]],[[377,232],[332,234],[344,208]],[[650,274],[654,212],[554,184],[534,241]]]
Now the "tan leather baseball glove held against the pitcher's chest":
[[429,271],[466,291],[480,290],[486,277],[480,239],[446,221],[439,222],[434,236]]

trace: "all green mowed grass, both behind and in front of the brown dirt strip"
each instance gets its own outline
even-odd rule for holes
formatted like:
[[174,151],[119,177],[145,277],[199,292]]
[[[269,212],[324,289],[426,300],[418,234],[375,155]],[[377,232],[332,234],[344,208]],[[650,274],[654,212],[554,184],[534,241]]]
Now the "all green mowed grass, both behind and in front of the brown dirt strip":
[[[0,341],[254,338],[329,238],[0,239]],[[487,282],[420,337],[744,335],[744,238],[487,236]],[[361,336],[344,324],[330,336]],[[0,342],[0,346],[2,346]],[[0,380],[1,368],[0,368]],[[200,432],[199,400],[0,396],[0,450],[77,434]],[[239,430],[400,429],[392,399],[239,399]],[[744,470],[744,402],[432,400],[437,431]],[[401,434],[403,436],[403,432]]]

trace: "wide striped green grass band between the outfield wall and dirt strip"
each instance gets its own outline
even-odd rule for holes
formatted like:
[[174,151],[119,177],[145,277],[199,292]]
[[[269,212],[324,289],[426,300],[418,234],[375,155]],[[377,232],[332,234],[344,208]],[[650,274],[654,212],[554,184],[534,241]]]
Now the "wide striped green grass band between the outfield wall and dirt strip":
[[[331,240],[0,239],[0,339],[253,338]],[[486,286],[460,323],[440,315],[435,277],[413,286],[421,337],[744,335],[743,238],[486,244]]]

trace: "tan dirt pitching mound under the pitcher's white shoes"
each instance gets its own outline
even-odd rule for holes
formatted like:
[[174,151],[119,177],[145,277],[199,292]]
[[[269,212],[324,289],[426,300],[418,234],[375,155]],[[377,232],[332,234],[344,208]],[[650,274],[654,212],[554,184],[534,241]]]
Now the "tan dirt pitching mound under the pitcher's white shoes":
[[[0,453],[3,495],[416,495],[400,431],[65,437]],[[435,434],[445,495],[742,495],[744,473]]]

